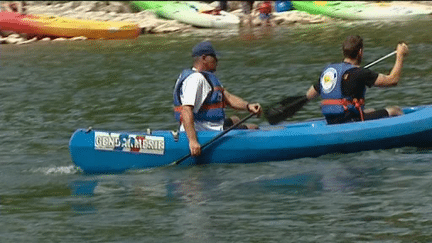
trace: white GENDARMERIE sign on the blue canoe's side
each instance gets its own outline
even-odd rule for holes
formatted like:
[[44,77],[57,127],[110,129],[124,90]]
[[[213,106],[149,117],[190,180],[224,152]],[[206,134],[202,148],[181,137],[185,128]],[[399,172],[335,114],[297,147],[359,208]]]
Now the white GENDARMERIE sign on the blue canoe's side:
[[95,132],[97,150],[164,154],[164,137],[120,133]]

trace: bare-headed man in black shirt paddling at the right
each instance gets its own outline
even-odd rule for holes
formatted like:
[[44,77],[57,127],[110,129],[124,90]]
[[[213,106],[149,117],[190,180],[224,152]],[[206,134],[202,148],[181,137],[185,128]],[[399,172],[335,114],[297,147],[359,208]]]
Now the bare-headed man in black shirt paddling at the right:
[[396,62],[389,75],[359,66],[363,58],[363,39],[360,36],[348,36],[342,49],[343,62],[328,65],[319,81],[306,93],[309,100],[318,96],[323,98],[321,110],[327,123],[364,121],[403,114],[397,106],[364,110],[364,96],[366,86],[390,87],[398,84],[408,46],[405,43],[397,45]]

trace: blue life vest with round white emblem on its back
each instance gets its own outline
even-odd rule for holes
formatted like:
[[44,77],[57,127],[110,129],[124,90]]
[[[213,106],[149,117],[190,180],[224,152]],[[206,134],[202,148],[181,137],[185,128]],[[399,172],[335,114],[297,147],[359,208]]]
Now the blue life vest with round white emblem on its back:
[[321,111],[324,116],[342,115],[345,112],[359,114],[363,121],[364,95],[360,99],[353,99],[342,93],[342,77],[346,71],[355,66],[349,63],[328,65],[320,77]]

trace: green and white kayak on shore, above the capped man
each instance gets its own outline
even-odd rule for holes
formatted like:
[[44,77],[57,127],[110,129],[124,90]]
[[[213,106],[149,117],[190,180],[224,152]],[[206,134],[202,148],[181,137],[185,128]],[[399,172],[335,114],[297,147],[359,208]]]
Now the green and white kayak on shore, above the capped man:
[[210,5],[199,2],[178,1],[132,1],[138,10],[151,10],[159,17],[175,19],[181,23],[205,28],[232,28],[240,19],[225,11],[212,11]]

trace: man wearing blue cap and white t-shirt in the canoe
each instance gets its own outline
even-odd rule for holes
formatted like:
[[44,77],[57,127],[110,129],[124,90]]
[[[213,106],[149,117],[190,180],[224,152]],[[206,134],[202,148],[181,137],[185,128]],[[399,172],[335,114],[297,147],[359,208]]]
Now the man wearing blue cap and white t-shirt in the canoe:
[[[250,104],[222,87],[214,75],[218,59],[212,44],[208,41],[192,49],[192,69],[183,70],[174,87],[174,115],[180,122],[180,131],[186,131],[192,156],[201,154],[196,131],[227,129],[238,117],[225,119],[226,105],[236,110],[261,114],[261,105]],[[257,129],[254,124],[239,126],[243,129]]]

